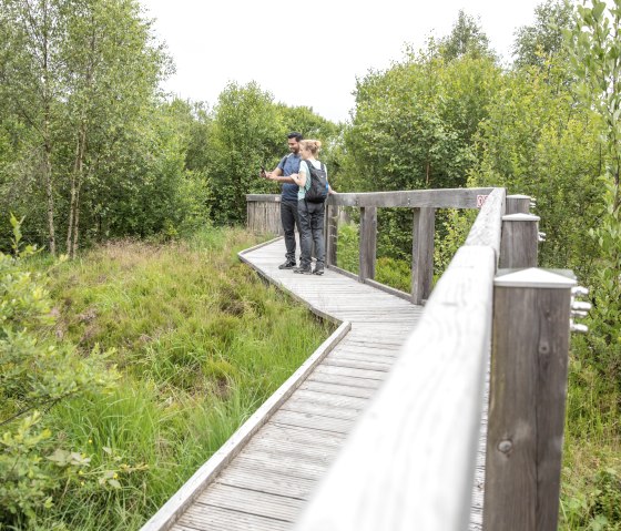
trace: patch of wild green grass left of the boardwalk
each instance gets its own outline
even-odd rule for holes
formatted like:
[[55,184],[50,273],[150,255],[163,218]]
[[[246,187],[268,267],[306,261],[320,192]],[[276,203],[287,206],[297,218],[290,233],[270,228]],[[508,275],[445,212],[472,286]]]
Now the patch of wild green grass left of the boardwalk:
[[49,331],[83,356],[110,350],[122,376],[113,394],[51,411],[91,463],[41,511],[42,529],[139,529],[332,333],[240,263],[255,243],[208,229],[111,243],[53,269]]

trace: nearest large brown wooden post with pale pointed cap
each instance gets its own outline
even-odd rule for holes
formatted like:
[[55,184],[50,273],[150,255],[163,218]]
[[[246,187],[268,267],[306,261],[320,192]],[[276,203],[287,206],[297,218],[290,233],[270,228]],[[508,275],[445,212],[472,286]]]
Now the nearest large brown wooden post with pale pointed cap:
[[530,268],[495,279],[485,531],[557,529],[576,284],[566,275]]

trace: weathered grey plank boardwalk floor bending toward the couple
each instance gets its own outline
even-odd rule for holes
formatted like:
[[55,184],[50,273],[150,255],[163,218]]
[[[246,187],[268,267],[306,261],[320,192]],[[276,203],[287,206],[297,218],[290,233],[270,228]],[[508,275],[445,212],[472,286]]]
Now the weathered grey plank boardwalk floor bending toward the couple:
[[[349,323],[349,330],[340,333],[338,343],[320,355],[277,410],[248,431],[241,450],[221,459],[223,467],[206,487],[191,487],[194,492],[182,512],[174,519],[157,520],[156,514],[143,530],[292,529],[421,315],[421,306],[330,269],[324,276],[279,270],[284,254],[278,239],[241,257],[315,313]],[[483,463],[481,453],[476,487],[482,487]],[[480,529],[482,494],[477,490],[471,530]],[[161,525],[166,519],[174,523]]]

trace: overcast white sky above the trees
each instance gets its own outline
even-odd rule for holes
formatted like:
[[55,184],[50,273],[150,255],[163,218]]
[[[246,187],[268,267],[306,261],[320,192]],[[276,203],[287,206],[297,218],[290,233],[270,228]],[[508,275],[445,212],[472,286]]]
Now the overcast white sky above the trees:
[[176,73],[163,86],[216,103],[228,81],[256,81],[276,101],[345,121],[356,76],[385,69],[434,34],[448,34],[459,9],[478,17],[491,47],[509,59],[513,32],[542,0],[142,0]]

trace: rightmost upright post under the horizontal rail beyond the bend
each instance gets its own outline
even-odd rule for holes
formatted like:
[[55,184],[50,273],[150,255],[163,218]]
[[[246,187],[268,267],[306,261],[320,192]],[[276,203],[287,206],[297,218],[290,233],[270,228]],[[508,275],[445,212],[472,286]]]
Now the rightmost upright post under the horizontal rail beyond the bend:
[[423,304],[429,298],[434,282],[434,233],[436,210],[414,208],[414,242],[411,248],[411,302]]

